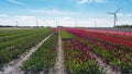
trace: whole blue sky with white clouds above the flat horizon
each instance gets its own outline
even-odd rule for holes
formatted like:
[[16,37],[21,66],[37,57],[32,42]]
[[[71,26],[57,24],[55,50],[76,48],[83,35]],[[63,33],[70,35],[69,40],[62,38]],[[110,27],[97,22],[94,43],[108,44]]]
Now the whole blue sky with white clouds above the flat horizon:
[[[0,0],[0,25],[112,27],[132,24],[132,0]],[[18,24],[16,24],[18,21]]]

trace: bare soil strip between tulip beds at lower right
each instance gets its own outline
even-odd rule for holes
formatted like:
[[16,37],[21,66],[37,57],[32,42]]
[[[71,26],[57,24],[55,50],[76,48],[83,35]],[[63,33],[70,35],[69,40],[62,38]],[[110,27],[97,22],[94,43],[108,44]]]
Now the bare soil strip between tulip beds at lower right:
[[97,60],[98,66],[101,66],[105,73],[107,73],[107,74],[121,74],[120,71],[113,70],[110,65],[105,64],[102,62],[102,59],[97,57],[95,53],[90,52],[90,55]]

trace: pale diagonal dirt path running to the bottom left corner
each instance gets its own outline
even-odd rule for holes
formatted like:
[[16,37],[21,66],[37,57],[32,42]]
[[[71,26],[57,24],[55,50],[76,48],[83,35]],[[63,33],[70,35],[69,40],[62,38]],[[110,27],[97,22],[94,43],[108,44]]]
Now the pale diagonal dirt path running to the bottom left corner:
[[35,52],[44,41],[46,41],[50,37],[52,36],[52,34],[50,36],[47,36],[45,39],[43,39],[40,44],[37,44],[35,47],[32,47],[31,50],[26,51],[25,53],[23,53],[20,59],[15,59],[12,60],[11,62],[9,62],[9,64],[7,66],[3,67],[3,71],[0,72],[0,74],[23,74],[24,71],[21,71],[21,66],[22,63],[24,61],[26,61],[30,55]]

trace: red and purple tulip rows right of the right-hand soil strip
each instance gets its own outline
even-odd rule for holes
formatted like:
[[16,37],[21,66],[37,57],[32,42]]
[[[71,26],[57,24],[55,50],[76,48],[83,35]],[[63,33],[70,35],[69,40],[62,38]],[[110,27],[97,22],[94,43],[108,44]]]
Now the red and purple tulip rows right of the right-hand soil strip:
[[84,29],[66,28],[66,30],[76,35],[98,57],[106,59],[105,63],[123,72],[132,72],[131,41]]

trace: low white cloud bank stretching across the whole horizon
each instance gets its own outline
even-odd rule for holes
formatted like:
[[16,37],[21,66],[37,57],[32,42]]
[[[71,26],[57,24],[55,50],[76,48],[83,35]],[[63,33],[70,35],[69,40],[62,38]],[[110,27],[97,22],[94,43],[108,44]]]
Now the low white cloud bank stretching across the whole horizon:
[[[132,21],[127,17],[127,15],[131,14],[122,14],[119,13],[120,20],[117,22],[117,24],[132,24]],[[8,16],[7,14],[1,14],[1,16]],[[123,20],[122,20],[123,18]],[[47,17],[40,17],[36,18],[35,16],[29,16],[29,15],[16,15],[7,18],[1,18],[0,24],[3,25],[16,25],[16,22],[19,22],[19,26],[36,26],[36,20],[38,21],[38,26],[56,26],[56,20],[58,22],[58,25],[62,26],[76,26],[75,21],[77,21],[77,26],[81,27],[95,27],[95,22],[97,27],[112,27],[113,26],[113,18],[96,18],[96,17],[73,17],[73,16],[47,16]]]

